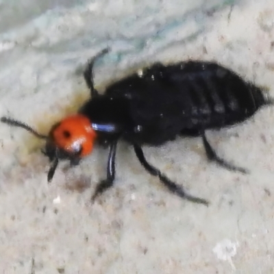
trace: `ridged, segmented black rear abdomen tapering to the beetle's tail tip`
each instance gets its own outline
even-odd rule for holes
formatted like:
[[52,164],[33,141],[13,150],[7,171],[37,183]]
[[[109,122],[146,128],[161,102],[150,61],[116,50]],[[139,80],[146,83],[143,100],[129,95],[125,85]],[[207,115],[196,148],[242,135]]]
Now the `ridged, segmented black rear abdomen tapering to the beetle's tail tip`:
[[184,97],[189,128],[233,125],[266,103],[260,88],[218,64],[187,62],[181,68],[169,77]]

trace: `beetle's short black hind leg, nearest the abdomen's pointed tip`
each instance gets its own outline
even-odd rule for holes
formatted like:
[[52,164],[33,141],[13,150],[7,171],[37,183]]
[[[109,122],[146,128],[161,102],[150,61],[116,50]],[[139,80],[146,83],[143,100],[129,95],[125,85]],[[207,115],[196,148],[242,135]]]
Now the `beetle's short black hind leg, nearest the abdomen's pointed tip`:
[[234,166],[233,164],[230,164],[229,162],[226,162],[224,159],[220,158],[214,149],[212,149],[210,143],[206,139],[206,134],[205,132],[201,133],[201,137],[203,138],[203,146],[206,149],[206,155],[208,157],[208,160],[214,161],[221,166],[223,166],[225,169],[228,169],[229,171],[240,171],[241,173],[248,173],[246,169],[243,169],[242,167],[239,166]]

